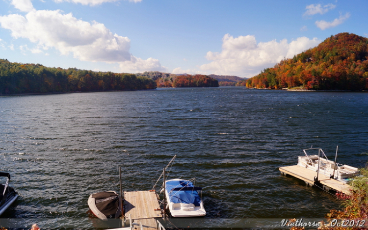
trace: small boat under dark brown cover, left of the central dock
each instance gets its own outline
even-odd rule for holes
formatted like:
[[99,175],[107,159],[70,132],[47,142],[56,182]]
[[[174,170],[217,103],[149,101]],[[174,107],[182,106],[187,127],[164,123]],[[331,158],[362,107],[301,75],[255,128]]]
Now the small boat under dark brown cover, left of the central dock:
[[102,220],[117,219],[121,216],[121,198],[115,191],[93,193],[88,206],[95,216]]

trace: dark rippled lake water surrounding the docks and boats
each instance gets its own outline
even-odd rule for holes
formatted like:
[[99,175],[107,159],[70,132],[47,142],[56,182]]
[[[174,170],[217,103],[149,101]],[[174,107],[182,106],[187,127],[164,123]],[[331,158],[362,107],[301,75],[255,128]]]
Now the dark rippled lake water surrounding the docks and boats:
[[[1,218],[93,229],[91,193],[196,178],[206,218],[323,218],[341,202],[281,176],[302,150],[368,162],[368,94],[241,87],[0,97],[0,171],[19,199]],[[161,196],[162,197],[162,196]],[[64,227],[63,227],[64,228]]]

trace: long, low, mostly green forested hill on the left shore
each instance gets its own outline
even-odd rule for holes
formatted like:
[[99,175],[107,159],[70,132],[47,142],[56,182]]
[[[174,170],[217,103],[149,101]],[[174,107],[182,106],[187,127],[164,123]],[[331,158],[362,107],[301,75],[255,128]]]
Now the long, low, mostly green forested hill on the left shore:
[[0,95],[156,89],[156,82],[134,74],[48,68],[0,59]]

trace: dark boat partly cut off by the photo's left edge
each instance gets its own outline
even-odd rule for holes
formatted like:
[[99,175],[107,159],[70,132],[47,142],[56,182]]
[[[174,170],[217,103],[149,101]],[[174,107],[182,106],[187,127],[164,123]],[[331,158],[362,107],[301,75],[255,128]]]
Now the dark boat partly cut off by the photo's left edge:
[[0,183],[0,215],[17,200],[18,193],[14,188],[9,187],[10,174],[0,172],[0,177],[5,177],[5,184]]

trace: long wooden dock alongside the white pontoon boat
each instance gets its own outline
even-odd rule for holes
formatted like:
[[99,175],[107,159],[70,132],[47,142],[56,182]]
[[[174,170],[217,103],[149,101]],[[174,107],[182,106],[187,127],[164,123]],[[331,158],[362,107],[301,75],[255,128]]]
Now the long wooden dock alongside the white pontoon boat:
[[[315,182],[315,177],[317,177],[317,172],[306,169],[299,165],[292,165],[292,166],[286,166],[286,167],[280,167],[280,171],[282,174],[290,175],[295,178],[304,180],[306,184],[308,185],[318,185]],[[329,191],[334,190],[336,192],[342,192],[344,194],[350,195],[351,190],[353,187],[351,187],[348,184],[345,184],[339,180],[336,179],[330,179],[326,175],[323,175],[322,173],[318,174],[318,181],[322,186],[322,189]]]

